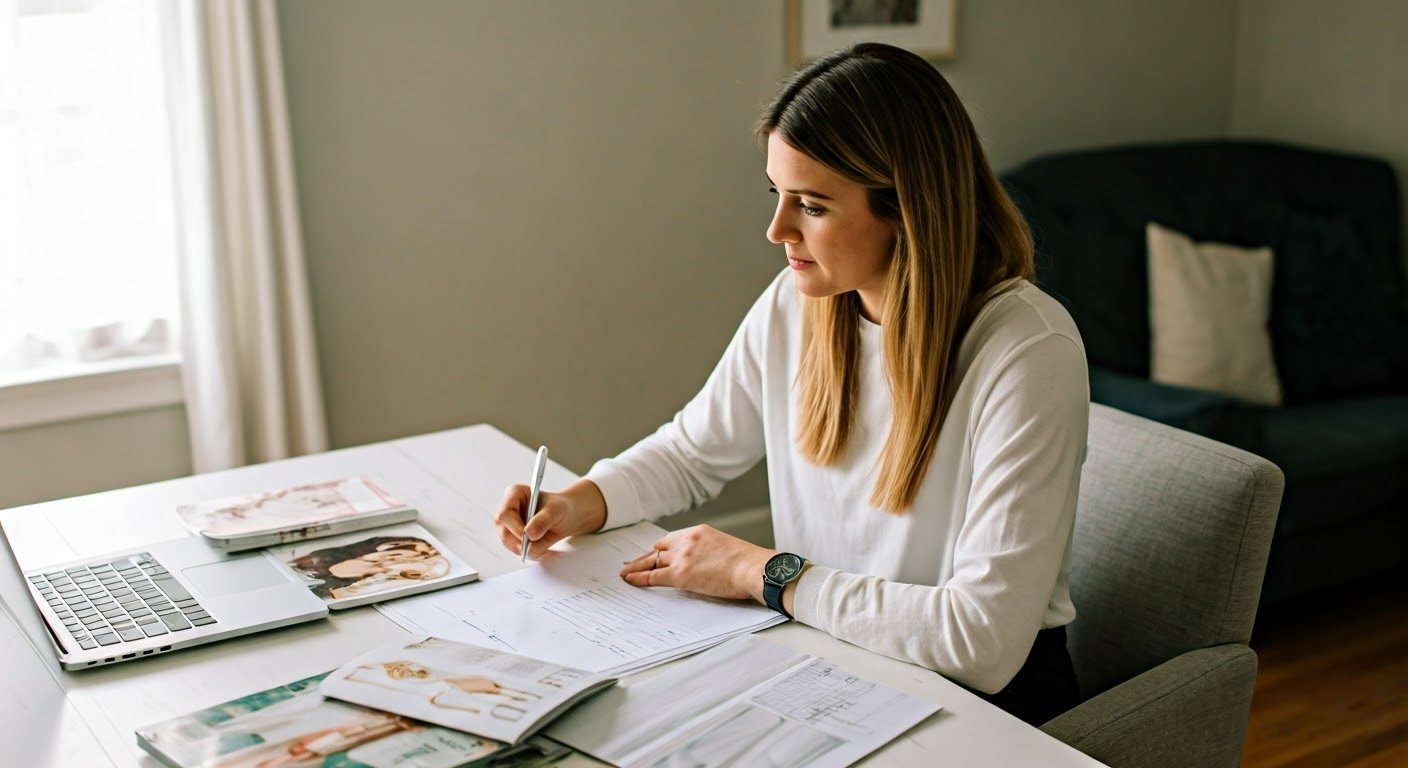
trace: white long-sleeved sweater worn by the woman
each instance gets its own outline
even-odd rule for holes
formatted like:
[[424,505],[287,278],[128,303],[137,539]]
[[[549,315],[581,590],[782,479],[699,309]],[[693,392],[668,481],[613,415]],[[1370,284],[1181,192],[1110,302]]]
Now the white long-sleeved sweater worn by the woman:
[[[776,545],[814,565],[798,621],[1001,690],[1036,631],[1076,616],[1070,533],[1086,455],[1086,352],[1066,310],[1026,280],[998,289],[957,355],[960,383],[907,514],[869,504],[890,428],[881,328],[862,320],[857,423],[843,459],[793,445],[801,302],[790,271],[758,299],[704,389],[587,478],[607,528],[708,499],[767,457]],[[762,579],[762,574],[759,574]]]

